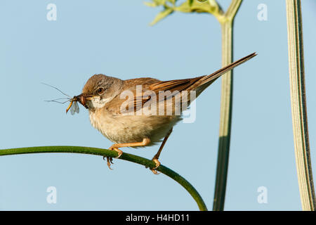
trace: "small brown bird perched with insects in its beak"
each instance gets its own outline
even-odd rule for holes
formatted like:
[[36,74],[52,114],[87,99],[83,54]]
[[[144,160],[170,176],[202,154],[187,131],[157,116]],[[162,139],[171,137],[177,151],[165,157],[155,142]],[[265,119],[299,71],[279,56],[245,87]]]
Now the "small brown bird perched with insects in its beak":
[[[122,154],[119,148],[152,146],[162,141],[152,158],[156,167],[151,170],[157,174],[155,169],[160,165],[159,155],[173,126],[182,120],[183,110],[220,75],[254,56],[256,53],[211,75],[189,79],[160,81],[146,77],[121,80],[93,75],[84,85],[82,94],[74,96],[72,101],[79,101],[88,109],[92,126],[114,142],[109,149],[117,151],[117,158]],[[112,158],[107,158],[109,167],[111,163]]]

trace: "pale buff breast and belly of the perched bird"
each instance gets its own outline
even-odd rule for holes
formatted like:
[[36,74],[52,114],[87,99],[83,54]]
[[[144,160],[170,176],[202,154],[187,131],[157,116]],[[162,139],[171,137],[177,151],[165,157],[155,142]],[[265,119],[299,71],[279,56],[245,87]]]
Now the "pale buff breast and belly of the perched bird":
[[[114,112],[114,108],[107,108],[111,101],[117,99],[102,99],[93,98],[91,104],[95,110],[89,111],[90,122],[93,127],[98,129],[107,139],[114,143],[135,143],[142,142],[143,139],[150,139],[152,146],[162,141],[169,130],[181,120],[181,110],[176,110],[177,106],[172,107],[174,101],[161,101],[157,104],[143,105],[143,107],[135,107],[133,110],[121,110]],[[130,102],[133,100],[124,100],[129,109]],[[150,101],[147,101],[150,103]],[[91,106],[92,106],[91,105]],[[156,110],[153,110],[155,106]],[[162,114],[162,110],[165,110]],[[166,108],[171,108],[166,115]],[[175,112],[177,114],[175,115]]]

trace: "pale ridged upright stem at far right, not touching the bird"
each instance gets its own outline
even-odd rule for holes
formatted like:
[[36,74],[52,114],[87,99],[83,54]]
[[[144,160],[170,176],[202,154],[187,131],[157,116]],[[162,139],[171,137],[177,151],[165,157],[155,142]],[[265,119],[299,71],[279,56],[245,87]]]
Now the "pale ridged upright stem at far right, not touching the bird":
[[301,1],[287,0],[287,30],[289,44],[289,78],[291,112],[298,186],[304,211],[315,211],[316,200],[312,180],[312,163],[308,140],[308,120],[305,97],[305,74]]

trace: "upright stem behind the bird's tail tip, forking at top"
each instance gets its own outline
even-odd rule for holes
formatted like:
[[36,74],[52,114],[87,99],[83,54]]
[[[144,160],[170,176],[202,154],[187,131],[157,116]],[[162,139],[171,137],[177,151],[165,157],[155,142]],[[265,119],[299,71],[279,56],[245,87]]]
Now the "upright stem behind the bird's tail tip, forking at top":
[[[222,65],[232,63],[232,27],[242,0],[232,0],[223,20],[219,20],[222,31]],[[220,98],[220,129],[218,140],[218,160],[213,210],[223,211],[228,176],[228,160],[230,153],[230,133],[232,123],[232,70],[222,76]]]

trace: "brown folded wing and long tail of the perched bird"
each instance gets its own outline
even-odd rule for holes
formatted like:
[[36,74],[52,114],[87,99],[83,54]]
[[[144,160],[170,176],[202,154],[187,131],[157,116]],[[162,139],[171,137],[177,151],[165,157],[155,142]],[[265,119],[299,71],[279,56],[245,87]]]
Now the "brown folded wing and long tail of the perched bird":
[[[225,74],[226,72],[232,70],[238,65],[246,62],[250,58],[256,56],[256,53],[252,53],[249,56],[241,58],[230,65],[213,72],[211,75],[205,75],[201,77],[189,78],[189,79],[173,79],[169,81],[159,81],[158,79],[152,78],[138,78],[126,80],[124,86],[126,89],[123,89],[123,94],[125,93],[125,98],[114,99],[113,101],[117,104],[117,108],[120,107],[120,110],[116,112],[120,113],[135,113],[140,109],[148,108],[149,105],[155,104],[158,108],[171,107],[172,113],[177,110],[177,107],[180,107],[182,112],[185,108],[190,105],[190,103],[199,96],[199,94],[206,89],[207,86],[212,84],[218,77]],[[191,98],[192,94],[190,91],[195,91],[195,95]],[[176,103],[178,99],[183,99],[183,95],[186,95],[185,108],[182,104]],[[128,99],[126,100],[126,98]],[[167,100],[171,101],[167,101]],[[112,101],[112,102],[113,102]],[[113,104],[113,103],[112,103]],[[172,104],[172,105],[171,105]],[[112,105],[111,105],[112,106]],[[152,107],[152,106],[151,106]]]

